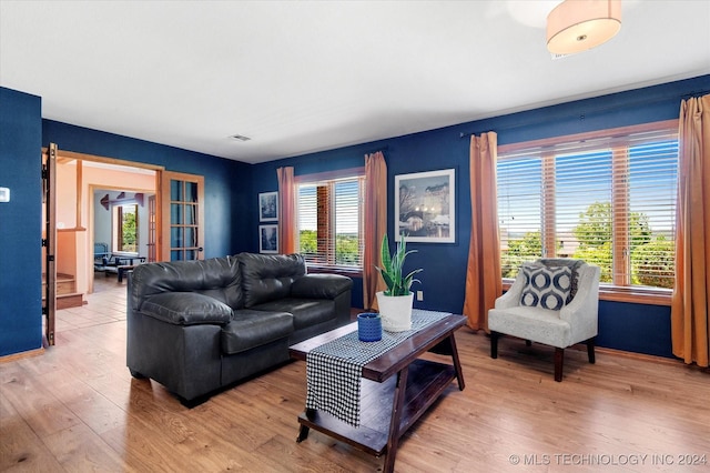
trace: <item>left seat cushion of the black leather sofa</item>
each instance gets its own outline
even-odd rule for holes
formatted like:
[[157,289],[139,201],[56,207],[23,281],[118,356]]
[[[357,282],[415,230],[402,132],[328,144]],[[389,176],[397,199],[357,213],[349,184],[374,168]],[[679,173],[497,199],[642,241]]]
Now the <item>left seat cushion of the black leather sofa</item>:
[[234,311],[232,322],[220,334],[222,353],[234,354],[261,346],[293,333],[293,315],[287,312]]

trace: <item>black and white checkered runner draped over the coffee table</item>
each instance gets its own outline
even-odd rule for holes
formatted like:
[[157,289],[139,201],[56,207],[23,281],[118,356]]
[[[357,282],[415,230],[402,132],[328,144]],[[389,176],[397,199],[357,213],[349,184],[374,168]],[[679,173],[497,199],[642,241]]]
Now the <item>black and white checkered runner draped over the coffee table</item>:
[[359,390],[363,366],[392,350],[416,331],[450,315],[448,312],[412,311],[412,330],[382,332],[378,342],[361,342],[357,330],[325,343],[306,355],[306,409],[333,414],[359,426]]

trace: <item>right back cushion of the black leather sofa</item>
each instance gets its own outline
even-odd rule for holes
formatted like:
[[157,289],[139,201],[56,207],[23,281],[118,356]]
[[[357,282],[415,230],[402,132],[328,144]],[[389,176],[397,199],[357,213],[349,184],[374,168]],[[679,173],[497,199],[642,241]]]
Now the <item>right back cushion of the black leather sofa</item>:
[[237,258],[246,308],[286,298],[291,284],[306,273],[301,254],[240,253]]

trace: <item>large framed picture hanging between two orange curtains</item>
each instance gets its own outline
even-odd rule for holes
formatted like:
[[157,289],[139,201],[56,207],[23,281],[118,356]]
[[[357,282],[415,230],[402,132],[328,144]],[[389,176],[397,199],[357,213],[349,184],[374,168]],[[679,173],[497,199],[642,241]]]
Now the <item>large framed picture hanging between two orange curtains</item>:
[[395,175],[396,241],[455,243],[455,170]]

